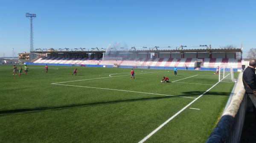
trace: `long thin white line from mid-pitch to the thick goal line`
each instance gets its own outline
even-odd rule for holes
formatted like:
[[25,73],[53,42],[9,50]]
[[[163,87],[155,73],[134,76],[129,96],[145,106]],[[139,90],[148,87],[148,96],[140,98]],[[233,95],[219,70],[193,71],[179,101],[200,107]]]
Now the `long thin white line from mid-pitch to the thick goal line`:
[[[68,85],[68,84],[56,84],[56,85],[65,85],[65,86],[71,86],[71,87],[86,87],[86,86]],[[86,87],[86,88],[96,88],[96,89],[102,89],[102,90],[116,90],[116,89],[100,88],[100,87]],[[144,92],[130,91],[130,90],[116,90],[116,91],[125,91],[125,92],[131,92],[131,93],[144,93]],[[176,95],[166,95],[166,94],[157,94],[157,93],[144,93],[144,94],[164,95],[164,96],[173,96],[173,97],[183,97],[183,98],[193,98],[193,99],[195,99],[194,97],[176,96]]]

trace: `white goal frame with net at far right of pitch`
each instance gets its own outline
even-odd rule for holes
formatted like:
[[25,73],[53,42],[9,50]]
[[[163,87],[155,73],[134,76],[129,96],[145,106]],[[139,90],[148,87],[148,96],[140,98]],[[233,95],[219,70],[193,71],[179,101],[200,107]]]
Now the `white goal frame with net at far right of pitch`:
[[219,81],[223,82],[236,82],[234,78],[233,68],[227,67],[227,65],[219,65]]

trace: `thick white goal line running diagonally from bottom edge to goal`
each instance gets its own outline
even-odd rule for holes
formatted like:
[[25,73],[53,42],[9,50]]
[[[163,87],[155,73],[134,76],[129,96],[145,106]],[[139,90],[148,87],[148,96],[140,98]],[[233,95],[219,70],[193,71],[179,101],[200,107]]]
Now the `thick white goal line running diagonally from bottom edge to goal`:
[[[230,73],[229,73],[230,74]],[[229,75],[228,74],[228,75]],[[227,75],[227,76],[228,76]],[[226,76],[225,76],[226,77]],[[224,78],[225,78],[224,77]],[[223,79],[224,79],[223,78]],[[221,79],[221,80],[223,80]],[[221,81],[220,80],[220,81]],[[203,94],[201,94],[200,96],[198,96],[197,98],[195,98],[192,102],[190,102],[189,104],[187,104],[185,107],[183,107],[182,109],[180,109],[180,111],[178,111],[175,115],[173,115],[171,118],[169,118],[168,120],[166,120],[164,123],[162,123],[160,126],[157,127],[157,129],[154,129],[154,131],[152,131],[151,133],[149,133],[146,137],[144,137],[142,140],[139,141],[139,143],[143,143],[145,142],[149,137],[151,137],[152,135],[154,135],[154,133],[156,133],[159,129],[161,129],[164,125],[166,125],[167,123],[169,123],[169,121],[171,121],[173,118],[175,118],[177,115],[179,115],[182,111],[184,111],[187,107],[189,107],[191,104],[193,104],[195,101],[197,101],[200,97],[202,97],[205,93],[207,93],[209,90],[211,90],[213,87],[215,87],[218,83],[220,83],[220,81],[218,81],[216,84],[214,84],[212,87],[210,87],[208,90],[206,90]]]

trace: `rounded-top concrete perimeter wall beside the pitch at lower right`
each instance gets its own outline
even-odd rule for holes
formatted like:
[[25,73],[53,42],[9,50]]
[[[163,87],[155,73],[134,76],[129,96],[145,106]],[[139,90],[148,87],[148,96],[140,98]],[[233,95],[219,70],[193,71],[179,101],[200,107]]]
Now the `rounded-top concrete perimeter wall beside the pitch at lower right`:
[[227,109],[221,116],[206,143],[239,143],[244,125],[248,97],[244,87],[233,95]]

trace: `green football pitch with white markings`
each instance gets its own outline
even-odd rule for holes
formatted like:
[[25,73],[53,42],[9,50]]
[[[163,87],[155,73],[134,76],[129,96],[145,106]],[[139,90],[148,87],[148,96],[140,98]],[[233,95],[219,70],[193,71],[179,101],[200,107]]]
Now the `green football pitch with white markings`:
[[234,85],[214,71],[28,67],[0,66],[0,143],[204,143]]

